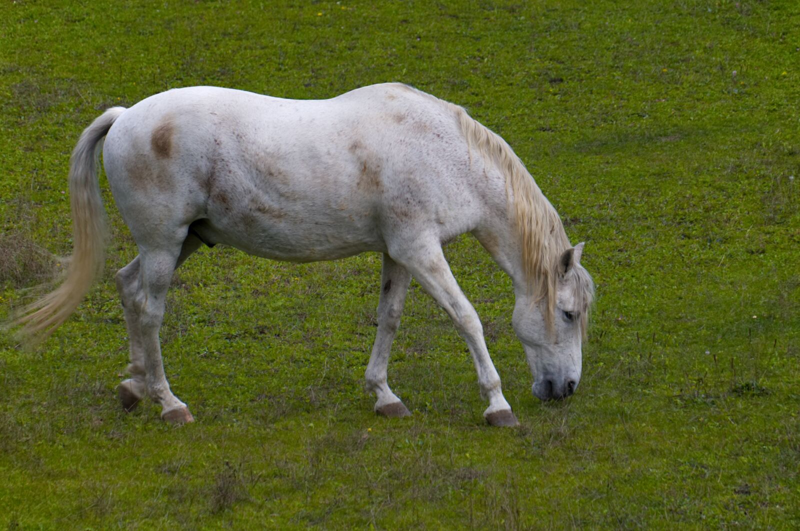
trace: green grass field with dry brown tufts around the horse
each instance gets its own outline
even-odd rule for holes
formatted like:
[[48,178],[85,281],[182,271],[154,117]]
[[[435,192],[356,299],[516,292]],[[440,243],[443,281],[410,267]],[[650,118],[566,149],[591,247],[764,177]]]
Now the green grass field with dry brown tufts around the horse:
[[501,134],[598,297],[574,397],[541,403],[510,281],[446,249],[517,429],[412,284],[376,417],[380,257],[202,250],[162,343],[197,421],[122,412],[113,274],[33,352],[0,334],[0,526],[443,529],[800,526],[797,2],[2,2],[0,318],[69,254],[68,158],[107,106],[178,86],[328,98],[402,81]]

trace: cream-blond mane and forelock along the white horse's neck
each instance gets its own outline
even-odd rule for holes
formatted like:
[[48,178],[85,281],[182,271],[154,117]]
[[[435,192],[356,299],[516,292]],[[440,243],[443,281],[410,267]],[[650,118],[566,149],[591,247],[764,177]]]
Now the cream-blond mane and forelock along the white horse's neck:
[[[571,247],[558,212],[505,140],[471,118],[461,106],[430,94],[426,96],[437,99],[454,112],[470,146],[470,158],[472,150],[477,151],[484,161],[492,162],[505,176],[509,218],[514,223],[522,251],[522,273],[534,301],[544,302],[542,313],[548,329],[552,329],[558,296],[558,262]],[[580,265],[571,269],[568,276],[576,290],[575,301],[581,309],[580,325],[586,333],[586,314],[594,297],[594,282]]]

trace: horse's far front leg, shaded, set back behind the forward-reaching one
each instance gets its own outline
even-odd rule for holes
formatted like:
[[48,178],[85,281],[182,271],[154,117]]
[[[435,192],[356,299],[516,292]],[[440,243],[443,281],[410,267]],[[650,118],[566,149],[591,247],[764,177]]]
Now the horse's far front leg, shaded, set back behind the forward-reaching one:
[[386,367],[400,325],[400,315],[406,303],[406,292],[411,275],[389,255],[383,255],[381,272],[381,295],[378,301],[378,335],[372,346],[370,363],[366,365],[366,388],[375,393],[375,413],[386,417],[406,417],[411,413],[402,401],[392,393],[386,383]]

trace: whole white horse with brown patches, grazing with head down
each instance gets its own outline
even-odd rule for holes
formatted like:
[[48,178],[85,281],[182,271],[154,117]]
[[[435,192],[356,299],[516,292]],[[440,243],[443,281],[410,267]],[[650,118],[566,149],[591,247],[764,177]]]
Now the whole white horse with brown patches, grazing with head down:
[[478,314],[442,244],[474,234],[514,283],[514,330],[534,395],[567,397],[581,377],[594,285],[558,214],[511,148],[459,106],[410,86],[366,86],[328,100],[198,86],[106,110],[70,162],[74,254],[65,281],[30,305],[23,334],[45,337],[102,269],[105,221],[96,159],[139,255],[116,276],[130,337],[130,410],[149,395],[162,418],[193,417],[170,390],[158,330],[174,270],[202,244],[274,260],[383,254],[378,334],[366,367],[375,411],[409,415],[386,366],[411,277],[469,345],[491,425],[518,424],[503,397]]

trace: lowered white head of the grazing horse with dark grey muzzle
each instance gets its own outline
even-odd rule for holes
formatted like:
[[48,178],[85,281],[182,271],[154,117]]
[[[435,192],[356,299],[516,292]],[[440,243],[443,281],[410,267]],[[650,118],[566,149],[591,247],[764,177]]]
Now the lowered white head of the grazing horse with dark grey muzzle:
[[[594,283],[580,264],[583,244],[566,250],[558,260],[557,293],[552,325],[547,325],[540,304],[518,289],[514,331],[525,347],[533,391],[541,400],[569,397],[581,381],[581,344]],[[546,305],[547,301],[542,301]]]

